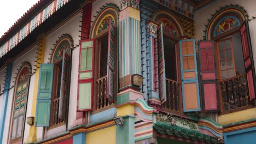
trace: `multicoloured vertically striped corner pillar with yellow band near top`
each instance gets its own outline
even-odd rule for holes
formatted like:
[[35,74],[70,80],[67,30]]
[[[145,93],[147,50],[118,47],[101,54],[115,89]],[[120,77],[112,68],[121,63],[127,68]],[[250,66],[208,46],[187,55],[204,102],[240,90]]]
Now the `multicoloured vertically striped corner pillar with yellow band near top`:
[[141,23],[139,1],[121,0],[119,14],[120,78],[141,74]]

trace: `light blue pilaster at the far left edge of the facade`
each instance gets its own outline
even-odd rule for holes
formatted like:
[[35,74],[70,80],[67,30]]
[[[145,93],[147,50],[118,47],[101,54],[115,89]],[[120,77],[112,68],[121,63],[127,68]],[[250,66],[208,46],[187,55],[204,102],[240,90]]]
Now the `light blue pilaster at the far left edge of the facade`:
[[6,116],[6,110],[7,110],[7,104],[8,104],[8,95],[9,95],[12,69],[13,69],[13,62],[10,62],[6,68],[6,75],[5,75],[5,81],[4,81],[4,93],[2,95],[3,103],[1,105],[1,115],[0,115],[0,143],[2,143],[2,140],[3,140],[4,123],[5,123],[5,116]]

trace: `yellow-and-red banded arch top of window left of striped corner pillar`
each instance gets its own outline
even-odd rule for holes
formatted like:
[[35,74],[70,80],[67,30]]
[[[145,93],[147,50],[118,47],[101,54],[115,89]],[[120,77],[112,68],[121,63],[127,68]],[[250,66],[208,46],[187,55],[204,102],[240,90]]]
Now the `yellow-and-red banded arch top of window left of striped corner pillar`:
[[94,38],[108,27],[108,18],[114,26],[118,25],[119,8],[116,5],[109,4],[105,6],[96,16],[90,29],[90,38]]

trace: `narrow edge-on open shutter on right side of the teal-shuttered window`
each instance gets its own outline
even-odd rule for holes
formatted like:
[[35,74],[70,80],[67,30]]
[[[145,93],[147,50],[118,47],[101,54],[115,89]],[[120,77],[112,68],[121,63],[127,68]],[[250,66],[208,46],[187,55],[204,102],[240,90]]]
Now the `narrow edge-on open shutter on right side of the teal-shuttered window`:
[[68,55],[65,49],[63,49],[62,56],[62,70],[61,70],[61,89],[60,89],[60,102],[59,102],[59,118],[64,119],[66,112],[63,111],[63,107],[67,104],[67,93],[66,93],[66,80],[67,80],[67,61]]

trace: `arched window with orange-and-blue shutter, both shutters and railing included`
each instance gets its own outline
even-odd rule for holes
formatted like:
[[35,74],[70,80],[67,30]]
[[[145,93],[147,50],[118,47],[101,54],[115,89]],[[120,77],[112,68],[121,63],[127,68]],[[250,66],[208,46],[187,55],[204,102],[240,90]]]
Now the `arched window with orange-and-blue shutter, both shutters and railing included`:
[[183,111],[200,111],[195,40],[182,39],[183,26],[168,11],[159,11],[153,15],[153,20],[158,23],[158,81],[161,109],[177,114]]

